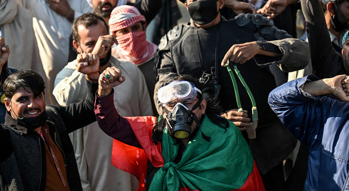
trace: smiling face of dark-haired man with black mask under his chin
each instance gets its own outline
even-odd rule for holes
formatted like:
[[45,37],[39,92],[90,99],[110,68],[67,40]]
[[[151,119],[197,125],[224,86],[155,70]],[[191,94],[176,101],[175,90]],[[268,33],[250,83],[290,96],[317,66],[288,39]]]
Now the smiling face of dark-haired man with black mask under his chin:
[[4,100],[7,111],[14,119],[17,117],[37,117],[45,111],[45,95],[43,93],[34,95],[30,88],[17,88],[15,94],[9,101]]

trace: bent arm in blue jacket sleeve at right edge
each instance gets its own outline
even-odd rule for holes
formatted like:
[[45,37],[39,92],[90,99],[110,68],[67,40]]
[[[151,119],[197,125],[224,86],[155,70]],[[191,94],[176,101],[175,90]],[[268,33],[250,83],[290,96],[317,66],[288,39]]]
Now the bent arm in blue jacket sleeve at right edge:
[[330,113],[342,109],[333,104],[336,100],[315,96],[331,93],[349,101],[348,83],[346,75],[324,80],[309,75],[275,88],[269,94],[268,103],[285,127],[298,140],[307,143],[317,138],[315,134],[321,133]]

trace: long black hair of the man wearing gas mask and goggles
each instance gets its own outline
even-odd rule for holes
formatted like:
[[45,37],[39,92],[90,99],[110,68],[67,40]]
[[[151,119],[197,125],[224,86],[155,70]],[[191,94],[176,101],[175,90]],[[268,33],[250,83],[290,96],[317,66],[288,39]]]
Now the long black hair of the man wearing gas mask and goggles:
[[[192,82],[196,88],[202,90],[203,86],[201,83],[199,83],[195,78],[193,78],[190,75],[179,75],[168,82],[165,82],[163,86],[168,85],[174,80],[181,80],[181,81],[188,81]],[[199,98],[199,101],[202,100],[202,95],[198,94],[196,97]],[[227,129],[229,127],[229,122],[227,119],[221,117],[221,114],[225,113],[225,111],[217,104],[216,99],[209,99],[207,100],[207,105],[206,105],[206,111],[205,115],[211,120],[212,123],[222,127],[223,129]],[[162,140],[162,135],[164,128],[166,127],[167,122],[166,119],[163,118],[162,116],[159,117],[158,122],[156,125],[153,127],[153,142],[157,144],[159,141]]]

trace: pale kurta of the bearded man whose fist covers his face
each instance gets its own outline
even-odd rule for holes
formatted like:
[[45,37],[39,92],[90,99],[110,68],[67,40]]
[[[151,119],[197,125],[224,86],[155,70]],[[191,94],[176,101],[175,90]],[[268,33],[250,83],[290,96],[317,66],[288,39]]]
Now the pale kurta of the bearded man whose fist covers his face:
[[[111,66],[122,71],[126,80],[114,88],[114,105],[121,116],[150,116],[150,96],[144,76],[134,64],[110,58]],[[85,75],[77,72],[74,60],[58,73],[53,95],[61,105],[79,102],[87,94]],[[112,141],[97,122],[70,133],[83,190],[134,191],[137,179],[111,164]]]

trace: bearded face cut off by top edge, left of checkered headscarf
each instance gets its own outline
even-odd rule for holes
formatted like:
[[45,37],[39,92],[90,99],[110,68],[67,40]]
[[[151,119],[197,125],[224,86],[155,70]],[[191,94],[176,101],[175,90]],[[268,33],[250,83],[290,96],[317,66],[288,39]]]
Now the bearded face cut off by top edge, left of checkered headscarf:
[[97,15],[109,18],[117,3],[118,0],[92,0],[92,8],[95,10]]

